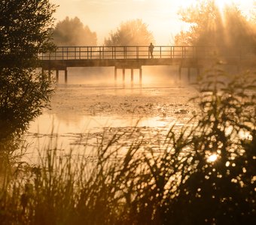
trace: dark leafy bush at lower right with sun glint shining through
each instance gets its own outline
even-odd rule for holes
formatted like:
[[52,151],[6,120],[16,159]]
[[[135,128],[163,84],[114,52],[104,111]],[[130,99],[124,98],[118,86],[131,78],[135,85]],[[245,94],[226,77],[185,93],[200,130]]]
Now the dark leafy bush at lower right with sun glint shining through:
[[172,206],[182,208],[176,211],[176,222],[253,224],[256,80],[248,73],[231,77],[213,68],[199,83],[201,114],[191,140],[193,168]]

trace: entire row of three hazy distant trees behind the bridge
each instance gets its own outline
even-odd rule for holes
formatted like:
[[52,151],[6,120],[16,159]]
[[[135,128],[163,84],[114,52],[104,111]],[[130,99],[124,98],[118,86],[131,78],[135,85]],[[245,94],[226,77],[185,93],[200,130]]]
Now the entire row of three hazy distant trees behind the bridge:
[[[197,5],[181,9],[181,21],[190,24],[187,31],[175,35],[176,45],[221,46],[221,49],[235,49],[237,46],[254,46],[256,43],[256,20],[253,11],[246,17],[237,5],[227,5],[223,10],[214,0],[198,1]],[[172,29],[166,27],[166,29]],[[84,26],[78,17],[66,17],[53,29],[56,45],[81,46],[99,45],[97,34]],[[120,23],[116,31],[110,31],[104,45],[145,45],[155,43],[154,34],[141,19]],[[223,46],[225,48],[223,48]]]

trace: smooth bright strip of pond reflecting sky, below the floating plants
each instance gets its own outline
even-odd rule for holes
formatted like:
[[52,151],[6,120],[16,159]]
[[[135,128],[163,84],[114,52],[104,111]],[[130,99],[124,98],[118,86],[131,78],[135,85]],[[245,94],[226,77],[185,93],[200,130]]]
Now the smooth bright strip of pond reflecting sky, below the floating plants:
[[55,114],[43,114],[31,124],[29,133],[87,133],[102,130],[103,127],[165,127],[169,123],[168,119],[160,117],[67,115],[66,120],[62,120]]

